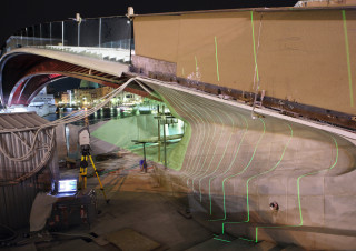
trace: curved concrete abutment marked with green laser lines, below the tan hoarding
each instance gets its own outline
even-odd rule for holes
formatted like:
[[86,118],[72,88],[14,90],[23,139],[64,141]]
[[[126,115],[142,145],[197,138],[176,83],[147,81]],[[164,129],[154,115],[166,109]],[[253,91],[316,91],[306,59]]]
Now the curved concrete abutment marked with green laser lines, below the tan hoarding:
[[271,117],[251,119],[217,98],[148,84],[191,126],[182,169],[170,181],[188,188],[196,219],[254,241],[355,248],[353,143]]

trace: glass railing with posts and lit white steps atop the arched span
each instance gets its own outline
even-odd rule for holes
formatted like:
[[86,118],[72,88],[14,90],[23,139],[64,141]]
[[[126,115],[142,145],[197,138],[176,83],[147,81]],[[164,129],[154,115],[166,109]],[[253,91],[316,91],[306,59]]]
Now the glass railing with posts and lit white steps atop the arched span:
[[1,53],[27,47],[130,63],[135,53],[132,21],[109,17],[40,23],[12,34]]

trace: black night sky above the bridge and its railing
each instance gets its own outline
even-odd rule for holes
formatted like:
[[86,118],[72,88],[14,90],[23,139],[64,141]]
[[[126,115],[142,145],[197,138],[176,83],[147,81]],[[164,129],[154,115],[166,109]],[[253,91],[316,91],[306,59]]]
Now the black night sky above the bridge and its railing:
[[297,0],[1,0],[0,47],[20,28],[61,21],[80,13],[82,18],[122,16],[132,6],[135,13],[159,13],[249,7],[294,6]]

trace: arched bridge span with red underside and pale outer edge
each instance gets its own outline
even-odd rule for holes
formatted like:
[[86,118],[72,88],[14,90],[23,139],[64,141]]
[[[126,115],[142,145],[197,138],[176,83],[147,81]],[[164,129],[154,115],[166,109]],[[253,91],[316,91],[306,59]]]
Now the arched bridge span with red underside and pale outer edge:
[[[27,106],[48,83],[66,77],[118,88],[129,78],[128,69],[128,66],[119,62],[61,51],[17,49],[4,54],[0,61],[1,103]],[[142,97],[149,96],[138,84],[126,90]]]

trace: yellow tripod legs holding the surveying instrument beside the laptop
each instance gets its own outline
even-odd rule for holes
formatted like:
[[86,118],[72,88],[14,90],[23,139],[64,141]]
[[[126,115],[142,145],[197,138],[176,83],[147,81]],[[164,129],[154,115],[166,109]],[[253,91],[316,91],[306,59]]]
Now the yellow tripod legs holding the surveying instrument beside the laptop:
[[89,157],[89,160],[90,160],[91,165],[93,168],[93,171],[95,171],[95,173],[96,173],[96,175],[98,178],[98,181],[99,181],[99,184],[100,184],[100,190],[102,192],[103,199],[106,200],[107,203],[109,203],[110,200],[107,199],[107,195],[105,193],[101,180],[99,178],[99,173],[98,173],[98,171],[96,169],[96,165],[93,164],[93,161],[92,161],[92,158],[91,158],[91,154],[90,154],[90,147],[89,145],[87,148],[82,148],[81,149],[81,161],[80,161],[80,170],[79,170],[79,184],[80,184],[80,188],[82,190],[85,190],[87,188],[88,157]]

